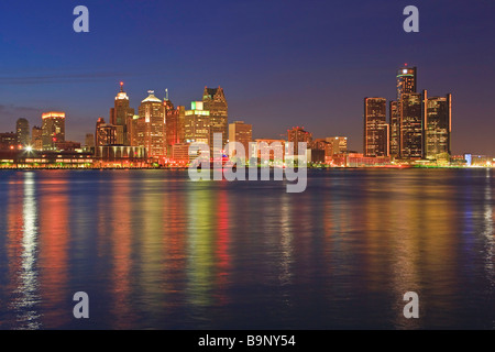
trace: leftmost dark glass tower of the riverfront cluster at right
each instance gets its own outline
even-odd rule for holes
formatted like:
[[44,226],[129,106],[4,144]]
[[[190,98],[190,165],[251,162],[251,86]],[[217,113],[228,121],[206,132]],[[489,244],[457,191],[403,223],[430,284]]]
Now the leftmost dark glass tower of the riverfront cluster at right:
[[364,155],[388,156],[387,100],[364,98]]

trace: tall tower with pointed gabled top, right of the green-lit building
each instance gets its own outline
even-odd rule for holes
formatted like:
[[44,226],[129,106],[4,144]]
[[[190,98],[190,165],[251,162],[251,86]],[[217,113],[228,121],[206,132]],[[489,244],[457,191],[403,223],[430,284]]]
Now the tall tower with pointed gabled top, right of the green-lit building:
[[223,88],[207,88],[202,94],[204,109],[210,112],[210,148],[213,147],[213,133],[222,133],[222,148],[227,144],[228,139],[228,111]]

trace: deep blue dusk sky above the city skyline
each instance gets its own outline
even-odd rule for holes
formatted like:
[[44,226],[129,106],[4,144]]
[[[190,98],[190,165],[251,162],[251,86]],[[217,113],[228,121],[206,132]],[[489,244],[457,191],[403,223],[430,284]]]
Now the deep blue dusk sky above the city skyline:
[[[89,9],[89,33],[73,10]],[[419,9],[419,33],[403,10]],[[224,88],[229,121],[255,138],[304,125],[362,151],[363,99],[394,99],[395,70],[418,90],[453,95],[453,152],[495,155],[493,0],[78,0],[0,2],[0,131],[42,111],[67,113],[84,142],[124,81],[138,109],[150,89],[189,107]]]

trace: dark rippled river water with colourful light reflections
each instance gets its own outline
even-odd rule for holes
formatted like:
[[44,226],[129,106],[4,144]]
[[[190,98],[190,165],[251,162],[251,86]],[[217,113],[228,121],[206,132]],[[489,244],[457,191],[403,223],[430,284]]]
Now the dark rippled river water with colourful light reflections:
[[495,328],[495,170],[2,170],[0,199],[0,329]]

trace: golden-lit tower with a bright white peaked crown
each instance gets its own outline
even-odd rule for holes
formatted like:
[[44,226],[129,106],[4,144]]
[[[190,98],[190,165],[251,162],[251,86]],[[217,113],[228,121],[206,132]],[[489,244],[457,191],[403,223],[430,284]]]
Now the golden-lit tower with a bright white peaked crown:
[[153,90],[148,90],[148,96],[141,101],[139,119],[133,123],[136,123],[136,146],[147,148],[150,157],[165,157],[165,107]]

